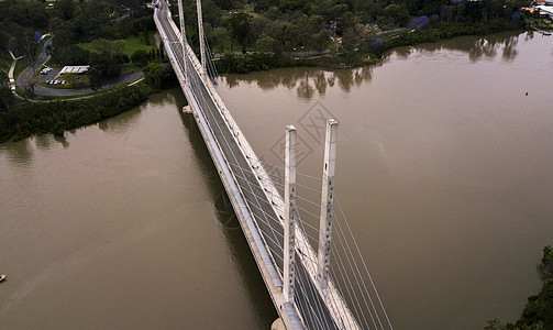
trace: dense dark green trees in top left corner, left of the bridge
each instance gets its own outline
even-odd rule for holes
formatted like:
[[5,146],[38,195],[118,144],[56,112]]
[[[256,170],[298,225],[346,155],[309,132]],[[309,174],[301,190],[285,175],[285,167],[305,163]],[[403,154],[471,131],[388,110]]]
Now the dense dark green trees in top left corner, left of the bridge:
[[[143,50],[126,54],[125,43],[113,40],[140,36],[146,43],[154,34],[152,10],[141,0],[5,0],[0,2],[0,61],[10,62],[8,50],[15,56],[34,61],[40,37],[46,32],[54,35],[52,63],[54,65],[91,65],[91,81],[119,76],[121,67],[132,62],[144,66],[162,59],[161,51]],[[77,46],[90,42],[90,50]],[[153,47],[153,46],[152,46]],[[5,81],[7,66],[0,73],[0,85]]]

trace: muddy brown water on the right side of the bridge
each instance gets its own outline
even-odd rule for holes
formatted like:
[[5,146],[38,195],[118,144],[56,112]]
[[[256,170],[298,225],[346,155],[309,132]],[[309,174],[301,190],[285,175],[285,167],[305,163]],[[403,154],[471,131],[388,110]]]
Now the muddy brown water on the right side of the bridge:
[[482,329],[518,318],[553,243],[552,82],[553,38],[500,34],[399,48],[375,68],[229,76],[220,90],[269,162],[294,123],[312,176],[321,119],[335,118],[336,196],[396,328]]

